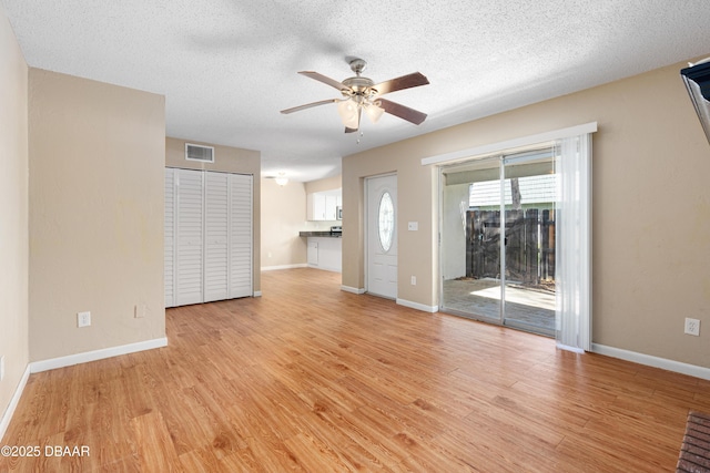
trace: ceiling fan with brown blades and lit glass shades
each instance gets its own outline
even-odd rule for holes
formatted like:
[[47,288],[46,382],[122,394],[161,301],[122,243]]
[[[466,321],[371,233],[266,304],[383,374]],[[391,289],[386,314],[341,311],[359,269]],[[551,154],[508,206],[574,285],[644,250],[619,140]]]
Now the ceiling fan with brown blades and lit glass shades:
[[337,103],[337,112],[345,125],[345,133],[353,133],[359,128],[359,121],[363,111],[373,121],[373,123],[377,123],[382,114],[385,112],[414,123],[415,125],[424,122],[426,113],[422,113],[382,97],[390,92],[428,84],[429,81],[424,74],[414,72],[412,74],[390,79],[376,84],[372,79],[363,78],[361,75],[367,64],[365,60],[353,59],[349,61],[349,64],[355,76],[345,79],[343,82],[338,82],[314,71],[298,72],[302,75],[315,79],[316,81],[337,89],[343,94],[343,99],[328,99],[307,103],[305,105],[294,106],[293,109],[282,110],[281,113],[293,113],[311,109],[313,106],[325,105],[327,103]]

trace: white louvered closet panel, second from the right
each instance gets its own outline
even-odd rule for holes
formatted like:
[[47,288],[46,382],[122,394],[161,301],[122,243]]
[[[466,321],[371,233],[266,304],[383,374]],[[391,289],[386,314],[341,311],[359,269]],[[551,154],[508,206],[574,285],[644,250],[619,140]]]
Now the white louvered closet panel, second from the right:
[[230,175],[205,173],[204,301],[230,298]]

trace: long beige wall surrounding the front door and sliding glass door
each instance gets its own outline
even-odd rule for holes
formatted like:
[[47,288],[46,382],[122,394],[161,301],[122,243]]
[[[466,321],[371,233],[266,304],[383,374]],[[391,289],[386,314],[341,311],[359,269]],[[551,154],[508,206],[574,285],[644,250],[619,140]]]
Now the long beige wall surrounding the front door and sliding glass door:
[[[710,367],[710,146],[679,76],[686,64],[344,158],[343,284],[364,286],[365,176],[397,172],[399,255],[417,256],[399,258],[398,297],[436,306],[437,172],[420,158],[597,121],[592,340]],[[406,232],[409,220],[419,232]],[[684,317],[701,320],[700,337],[683,335]]]

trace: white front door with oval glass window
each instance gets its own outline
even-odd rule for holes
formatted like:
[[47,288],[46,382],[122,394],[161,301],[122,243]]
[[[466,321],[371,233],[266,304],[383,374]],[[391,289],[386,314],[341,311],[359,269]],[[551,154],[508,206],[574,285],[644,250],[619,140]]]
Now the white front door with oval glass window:
[[367,191],[367,292],[397,298],[397,176],[371,177]]

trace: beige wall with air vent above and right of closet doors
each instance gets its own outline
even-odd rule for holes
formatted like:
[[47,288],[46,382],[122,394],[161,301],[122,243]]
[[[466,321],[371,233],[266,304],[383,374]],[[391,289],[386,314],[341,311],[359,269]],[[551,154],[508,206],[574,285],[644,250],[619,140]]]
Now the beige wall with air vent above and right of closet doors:
[[[185,160],[185,143],[201,144],[205,146],[214,146],[214,163],[201,163],[197,161]],[[254,232],[253,232],[253,250],[254,250],[254,274],[253,290],[258,292],[262,289],[261,282],[261,192],[262,183],[260,179],[262,155],[258,151],[243,150],[232,146],[221,146],[212,143],[196,142],[192,140],[182,140],[175,137],[165,138],[165,166],[181,167],[184,169],[203,169],[203,171],[221,171],[224,173],[251,174],[254,176]]]

